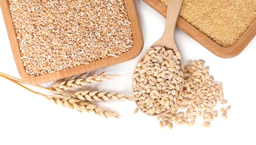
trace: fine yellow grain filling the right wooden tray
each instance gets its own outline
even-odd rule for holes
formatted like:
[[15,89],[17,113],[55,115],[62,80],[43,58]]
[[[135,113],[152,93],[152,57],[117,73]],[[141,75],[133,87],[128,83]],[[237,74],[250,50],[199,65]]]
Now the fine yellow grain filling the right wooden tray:
[[[167,6],[168,0],[159,0]],[[184,0],[180,16],[224,47],[234,45],[256,18],[256,1]]]

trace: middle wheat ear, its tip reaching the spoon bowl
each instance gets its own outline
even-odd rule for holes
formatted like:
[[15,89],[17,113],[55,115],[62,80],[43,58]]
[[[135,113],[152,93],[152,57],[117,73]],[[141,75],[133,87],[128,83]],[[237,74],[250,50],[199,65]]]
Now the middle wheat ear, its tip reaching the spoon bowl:
[[99,91],[76,91],[75,93],[70,94],[72,97],[80,99],[80,100],[88,100],[88,101],[126,101],[126,100],[134,100],[132,96],[125,94],[117,94],[111,92],[99,92]]

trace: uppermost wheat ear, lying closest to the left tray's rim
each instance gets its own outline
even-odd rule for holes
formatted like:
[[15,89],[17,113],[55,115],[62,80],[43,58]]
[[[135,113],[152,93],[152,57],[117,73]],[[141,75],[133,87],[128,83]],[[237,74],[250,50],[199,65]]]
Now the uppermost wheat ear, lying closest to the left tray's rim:
[[84,88],[85,85],[92,85],[92,83],[100,83],[104,80],[113,79],[117,74],[105,74],[101,72],[95,73],[85,73],[83,75],[72,76],[71,78],[66,78],[54,83],[50,89],[64,92],[65,90],[75,90],[74,88]]

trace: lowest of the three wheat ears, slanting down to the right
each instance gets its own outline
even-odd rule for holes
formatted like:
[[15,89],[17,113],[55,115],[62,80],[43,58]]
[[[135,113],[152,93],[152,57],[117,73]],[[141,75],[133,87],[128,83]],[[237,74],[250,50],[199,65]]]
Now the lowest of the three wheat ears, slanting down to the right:
[[53,101],[58,105],[63,105],[70,109],[76,109],[79,112],[92,112],[96,115],[102,115],[103,117],[113,117],[119,118],[120,114],[112,110],[106,110],[98,107],[96,104],[89,101],[79,100],[75,98],[70,98],[63,95],[44,95],[45,98]]

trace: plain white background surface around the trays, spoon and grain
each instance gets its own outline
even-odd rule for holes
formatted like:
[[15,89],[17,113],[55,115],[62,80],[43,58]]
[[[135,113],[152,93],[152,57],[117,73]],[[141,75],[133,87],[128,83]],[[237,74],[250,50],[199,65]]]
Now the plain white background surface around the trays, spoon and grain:
[[[124,75],[96,89],[131,95],[131,73],[136,63],[162,36],[165,18],[142,1],[136,1],[136,7],[144,49],[134,60],[102,69]],[[179,29],[175,38],[184,64],[189,59],[203,59],[210,66],[210,74],[223,82],[225,98],[232,105],[228,119],[219,116],[209,128],[202,127],[198,118],[194,127],[174,125],[173,130],[162,129],[156,118],[141,112],[134,115],[136,105],[132,101],[102,104],[122,115],[120,119],[106,119],[53,104],[0,78],[0,144],[255,144],[256,38],[232,59],[213,55]],[[20,78],[2,13],[0,46],[0,71]]]

